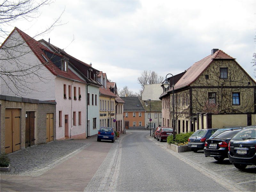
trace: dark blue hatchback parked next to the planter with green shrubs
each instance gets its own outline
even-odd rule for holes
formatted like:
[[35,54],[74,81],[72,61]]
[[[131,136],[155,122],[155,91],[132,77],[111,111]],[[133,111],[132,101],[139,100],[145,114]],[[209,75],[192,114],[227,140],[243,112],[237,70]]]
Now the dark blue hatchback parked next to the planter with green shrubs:
[[204,149],[204,142],[218,129],[199,129],[188,138],[188,147],[191,151]]

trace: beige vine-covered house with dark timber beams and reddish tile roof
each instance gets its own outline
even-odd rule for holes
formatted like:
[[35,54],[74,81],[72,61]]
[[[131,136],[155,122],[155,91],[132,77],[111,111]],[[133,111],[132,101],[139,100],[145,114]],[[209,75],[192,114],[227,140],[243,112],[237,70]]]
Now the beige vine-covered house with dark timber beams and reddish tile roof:
[[[174,82],[177,133],[256,123],[256,83],[225,52],[213,49],[211,55],[194,63]],[[172,86],[160,99],[162,111],[166,111],[164,125],[173,126]]]

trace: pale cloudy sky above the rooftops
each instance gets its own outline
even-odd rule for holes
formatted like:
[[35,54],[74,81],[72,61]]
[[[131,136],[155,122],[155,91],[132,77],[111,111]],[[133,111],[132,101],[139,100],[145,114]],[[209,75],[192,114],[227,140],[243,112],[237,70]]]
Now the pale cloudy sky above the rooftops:
[[5,29],[17,27],[35,36],[63,12],[62,25],[35,39],[50,38],[51,44],[106,73],[119,89],[127,85],[139,92],[137,78],[144,70],[164,78],[176,75],[213,48],[236,58],[255,80],[255,0],[56,0],[39,12]]

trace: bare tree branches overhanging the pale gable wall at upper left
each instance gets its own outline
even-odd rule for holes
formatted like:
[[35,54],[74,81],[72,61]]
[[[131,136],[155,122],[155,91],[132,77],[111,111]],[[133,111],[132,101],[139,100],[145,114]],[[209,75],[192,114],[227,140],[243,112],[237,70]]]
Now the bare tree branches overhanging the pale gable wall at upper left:
[[[51,3],[50,0],[4,0],[0,5],[0,37],[5,39],[7,35],[11,33],[5,29],[6,26],[10,26],[19,20],[31,21],[39,17],[39,8]],[[36,90],[35,84],[38,81],[46,82],[51,80],[49,77],[43,75],[42,70],[45,70],[45,63],[29,63],[25,61],[27,56],[33,54],[33,50],[28,47],[27,43],[30,41],[30,43],[39,44],[34,40],[36,36],[50,32],[54,27],[62,25],[60,17],[63,12],[57,19],[54,19],[52,24],[46,27],[45,30],[27,38],[26,41],[21,39],[20,36],[14,35],[9,36],[8,42],[4,41],[4,44],[1,44],[1,88],[6,87],[8,93],[12,92],[14,95],[25,96],[29,92]]]

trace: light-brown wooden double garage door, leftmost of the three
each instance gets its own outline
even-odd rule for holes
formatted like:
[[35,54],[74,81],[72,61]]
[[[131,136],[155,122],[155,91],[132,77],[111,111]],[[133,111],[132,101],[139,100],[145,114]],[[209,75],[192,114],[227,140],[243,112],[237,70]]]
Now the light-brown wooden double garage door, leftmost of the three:
[[5,109],[5,153],[20,149],[20,109]]

